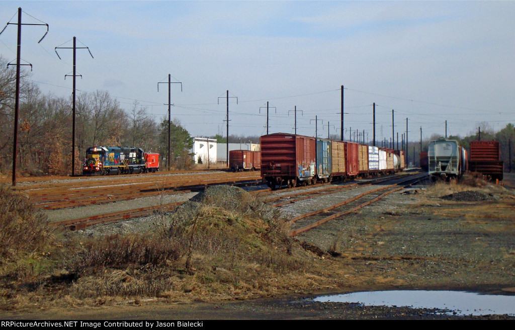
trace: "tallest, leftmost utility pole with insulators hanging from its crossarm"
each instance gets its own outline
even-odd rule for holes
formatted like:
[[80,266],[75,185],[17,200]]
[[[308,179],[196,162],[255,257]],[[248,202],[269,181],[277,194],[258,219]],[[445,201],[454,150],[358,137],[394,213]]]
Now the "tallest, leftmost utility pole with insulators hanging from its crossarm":
[[[30,15],[29,15],[30,16]],[[39,20],[38,20],[39,21]],[[41,22],[41,21],[40,21]],[[16,65],[16,91],[15,91],[15,101],[14,101],[14,135],[13,135],[13,147],[12,147],[12,186],[16,185],[16,152],[18,149],[18,113],[20,111],[20,72],[21,72],[21,65],[30,65],[30,70],[32,71],[32,64],[20,64],[21,61],[21,50],[22,50],[22,25],[45,25],[46,26],[46,32],[43,34],[43,37],[38,41],[38,44],[45,38],[46,34],[48,33],[48,24],[29,24],[25,23],[22,24],[22,8],[18,8],[18,23],[7,23],[2,31],[0,31],[0,34],[5,31],[8,25],[18,25],[18,40],[16,43],[16,64],[7,64],[9,65]]]

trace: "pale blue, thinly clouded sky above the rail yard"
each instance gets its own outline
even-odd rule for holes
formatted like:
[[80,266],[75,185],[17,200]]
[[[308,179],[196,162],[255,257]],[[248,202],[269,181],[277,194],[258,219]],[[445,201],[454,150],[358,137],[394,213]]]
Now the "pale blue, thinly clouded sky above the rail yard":
[[[462,136],[487,121],[499,130],[515,123],[515,2],[347,1],[2,1],[0,25],[18,7],[49,24],[23,27],[22,58],[43,93],[71,94],[75,36],[94,59],[78,50],[82,91],[107,90],[129,109],[139,100],[159,119],[167,113],[168,74],[172,116],[195,136],[292,132],[319,136],[340,128],[340,85],[345,85],[347,130],[372,138],[409,125],[410,140],[433,133]],[[26,13],[26,14],[25,14]],[[29,15],[28,15],[29,14]],[[11,23],[16,22],[14,16]],[[2,26],[2,28],[3,28]],[[0,35],[0,54],[14,60],[16,27]],[[79,43],[79,45],[81,45]],[[323,126],[322,126],[323,125]]]

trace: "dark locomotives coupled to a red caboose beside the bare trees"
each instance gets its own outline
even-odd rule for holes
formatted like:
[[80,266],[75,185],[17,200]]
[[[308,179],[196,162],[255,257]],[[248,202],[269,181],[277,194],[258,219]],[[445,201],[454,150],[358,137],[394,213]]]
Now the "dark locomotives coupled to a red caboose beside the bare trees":
[[86,150],[83,175],[114,175],[159,171],[159,153],[134,147],[91,147]]

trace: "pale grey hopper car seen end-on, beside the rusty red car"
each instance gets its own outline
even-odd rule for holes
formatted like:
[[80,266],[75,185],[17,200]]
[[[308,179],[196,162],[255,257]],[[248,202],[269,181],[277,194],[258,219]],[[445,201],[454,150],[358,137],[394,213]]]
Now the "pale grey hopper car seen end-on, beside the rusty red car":
[[464,172],[463,169],[467,167],[467,159],[462,157],[462,148],[455,140],[440,138],[431,141],[427,159],[428,173],[433,181],[438,177],[447,181],[451,178],[459,178]]

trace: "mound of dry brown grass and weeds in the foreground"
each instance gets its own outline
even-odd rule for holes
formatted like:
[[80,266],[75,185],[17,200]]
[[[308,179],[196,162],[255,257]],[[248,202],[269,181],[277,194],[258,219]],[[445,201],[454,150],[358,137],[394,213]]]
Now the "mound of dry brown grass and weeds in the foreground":
[[248,299],[319,285],[303,276],[313,254],[288,238],[277,210],[231,189],[163,214],[151,234],[67,238],[52,254],[27,254],[0,274],[0,308]]

